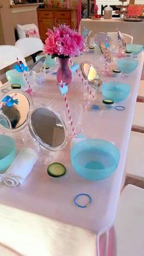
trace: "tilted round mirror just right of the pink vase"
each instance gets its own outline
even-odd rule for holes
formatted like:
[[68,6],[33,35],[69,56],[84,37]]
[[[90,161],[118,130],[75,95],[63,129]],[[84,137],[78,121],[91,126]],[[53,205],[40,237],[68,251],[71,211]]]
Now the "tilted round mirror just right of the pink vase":
[[98,71],[90,62],[84,61],[81,64],[81,71],[82,75],[85,79],[87,79],[88,84],[92,86],[94,89],[101,87],[103,84],[101,76],[99,75]]

